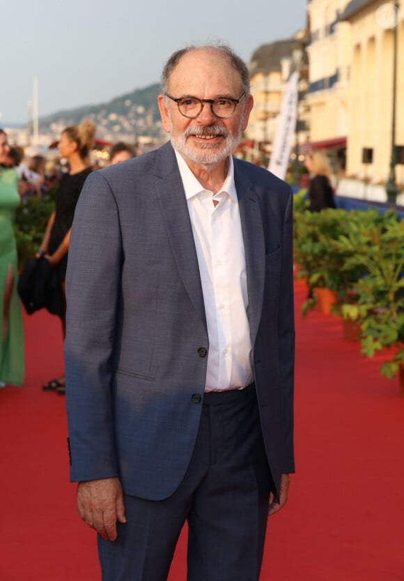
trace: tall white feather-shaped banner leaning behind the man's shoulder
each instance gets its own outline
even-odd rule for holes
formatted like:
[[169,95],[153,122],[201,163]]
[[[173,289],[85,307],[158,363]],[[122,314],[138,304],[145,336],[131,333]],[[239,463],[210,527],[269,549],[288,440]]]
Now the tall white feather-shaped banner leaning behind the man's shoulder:
[[292,135],[296,128],[298,81],[299,73],[295,70],[290,75],[288,89],[286,89],[285,96],[283,97],[277,133],[272,144],[272,154],[270,163],[268,164],[270,172],[281,179],[285,179],[286,176]]

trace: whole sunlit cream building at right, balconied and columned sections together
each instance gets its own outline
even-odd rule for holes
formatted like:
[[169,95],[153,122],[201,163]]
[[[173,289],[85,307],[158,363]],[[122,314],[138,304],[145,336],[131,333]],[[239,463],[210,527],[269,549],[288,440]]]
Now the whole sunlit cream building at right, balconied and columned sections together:
[[[309,143],[341,153],[346,176],[370,183],[385,183],[389,174],[394,29],[387,28],[387,13],[393,9],[380,0],[307,3]],[[396,145],[404,145],[403,15],[404,8],[397,26]],[[403,183],[403,165],[396,178]]]

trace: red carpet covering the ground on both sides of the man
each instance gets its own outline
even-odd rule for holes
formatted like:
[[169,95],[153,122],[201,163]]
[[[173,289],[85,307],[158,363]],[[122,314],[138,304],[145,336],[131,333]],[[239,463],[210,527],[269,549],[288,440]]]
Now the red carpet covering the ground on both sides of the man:
[[[288,506],[270,519],[261,581],[404,580],[404,400],[331,315],[300,316],[296,456]],[[95,534],[68,483],[59,320],[24,317],[26,380],[0,391],[0,581],[99,581]],[[185,581],[185,536],[170,581]]]

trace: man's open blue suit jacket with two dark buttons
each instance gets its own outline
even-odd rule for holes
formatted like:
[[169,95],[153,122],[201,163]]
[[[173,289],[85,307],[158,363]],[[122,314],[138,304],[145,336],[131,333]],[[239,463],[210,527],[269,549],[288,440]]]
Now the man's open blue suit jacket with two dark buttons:
[[[293,472],[293,196],[234,160],[254,375],[279,492]],[[90,174],[70,239],[66,405],[72,481],[119,476],[127,494],[178,487],[201,416],[209,348],[199,266],[171,144]],[[201,347],[203,349],[201,349]]]

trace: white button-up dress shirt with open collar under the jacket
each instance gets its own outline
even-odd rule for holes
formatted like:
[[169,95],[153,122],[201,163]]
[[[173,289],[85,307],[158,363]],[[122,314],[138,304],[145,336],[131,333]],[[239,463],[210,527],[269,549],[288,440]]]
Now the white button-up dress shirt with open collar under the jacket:
[[[205,391],[243,388],[254,381],[247,318],[247,273],[233,158],[215,195],[205,190],[176,152],[187,197],[208,324]],[[213,200],[218,202],[217,206]]]

